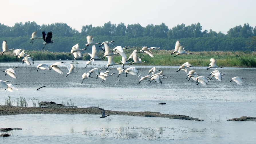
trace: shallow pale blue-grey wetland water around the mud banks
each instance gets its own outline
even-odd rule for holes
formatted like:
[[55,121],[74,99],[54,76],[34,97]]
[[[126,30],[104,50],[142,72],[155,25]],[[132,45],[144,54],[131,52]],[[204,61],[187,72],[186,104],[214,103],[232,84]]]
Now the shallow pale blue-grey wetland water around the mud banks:
[[[53,64],[56,61],[37,61]],[[69,61],[64,61],[69,64]],[[86,61],[78,61],[75,70],[88,72],[84,69]],[[96,61],[101,67],[105,64]],[[23,64],[24,65],[24,64]],[[10,80],[19,84],[19,90],[13,92],[0,89],[0,104],[5,104],[5,98],[10,96],[16,101],[19,96],[36,98],[40,101],[56,103],[72,100],[78,107],[101,106],[114,111],[155,111],[165,114],[188,115],[203,119],[204,122],[174,120],[167,118],[148,118],[131,116],[110,116],[110,121],[99,119],[99,115],[15,115],[1,116],[0,127],[19,127],[21,131],[13,131],[9,138],[0,138],[0,143],[255,143],[255,122],[226,121],[241,116],[256,117],[256,84],[253,68],[223,68],[218,69],[226,74],[223,82],[214,78],[207,86],[196,85],[192,79],[188,81],[184,71],[176,72],[177,67],[157,66],[164,70],[164,75],[171,76],[162,80],[163,84],[148,81],[139,82],[137,76],[117,75],[102,80],[94,78],[82,82],[82,73],[70,74],[62,68],[63,75],[57,72],[39,70],[36,66],[23,66],[21,63],[0,63],[0,70],[18,66],[17,79],[0,73],[0,80]],[[148,73],[152,66],[138,66],[141,76]],[[192,67],[196,72],[208,76],[213,70],[204,67]],[[110,68],[111,73],[117,73],[116,68]],[[105,71],[103,71],[105,72]],[[92,74],[95,76],[95,74]],[[240,76],[243,85],[229,82],[232,77]],[[36,88],[46,86],[36,91]],[[5,98],[4,98],[5,97]],[[166,105],[158,105],[166,102]],[[16,103],[15,103],[16,105]],[[29,100],[29,106],[32,106]],[[135,127],[131,129],[131,127]],[[128,128],[129,127],[129,128]],[[161,128],[162,127],[162,128]],[[112,131],[110,131],[111,129]],[[126,132],[119,129],[126,129]],[[161,129],[161,134],[159,131]],[[128,132],[127,132],[128,130]],[[131,132],[132,131],[132,132]],[[128,134],[127,134],[128,133]],[[153,140],[152,140],[153,139]],[[174,140],[173,140],[174,139]]]

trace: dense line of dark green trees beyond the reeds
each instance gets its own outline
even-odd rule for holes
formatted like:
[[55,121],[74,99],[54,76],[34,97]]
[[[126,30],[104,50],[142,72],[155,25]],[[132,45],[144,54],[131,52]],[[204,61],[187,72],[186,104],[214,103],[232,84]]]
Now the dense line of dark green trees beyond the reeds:
[[34,31],[38,31],[38,36],[41,36],[42,31],[52,31],[52,40],[56,42],[46,46],[46,50],[61,52],[70,51],[77,43],[84,46],[87,35],[93,35],[95,42],[114,40],[114,46],[154,46],[166,50],[174,49],[175,42],[180,40],[191,51],[255,50],[255,47],[248,44],[251,44],[251,37],[256,36],[256,26],[251,27],[249,23],[229,29],[225,35],[212,29],[202,31],[200,23],[188,26],[182,23],[169,29],[164,23],[143,27],[139,23],[126,26],[124,23],[112,24],[109,21],[103,26],[82,26],[81,32],[78,32],[66,23],[40,26],[34,21],[28,21],[24,24],[15,23],[13,27],[0,23],[0,40],[7,40],[8,46],[12,48],[41,50],[42,40],[35,40],[33,45],[29,44],[29,38]]

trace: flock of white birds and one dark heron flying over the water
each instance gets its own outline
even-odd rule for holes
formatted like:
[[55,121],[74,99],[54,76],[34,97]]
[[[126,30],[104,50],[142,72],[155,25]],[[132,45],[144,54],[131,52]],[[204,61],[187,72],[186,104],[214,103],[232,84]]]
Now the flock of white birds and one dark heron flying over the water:
[[[44,48],[45,48],[46,44],[52,44],[53,42],[55,42],[55,41],[51,40],[52,39],[52,32],[48,32],[47,35],[46,35],[46,33],[43,31],[42,32],[43,38],[39,38],[36,35],[36,33],[37,33],[37,31],[32,33],[32,38],[31,38],[32,44],[33,44],[34,39],[44,39],[45,42],[43,44],[44,44]],[[108,44],[111,44],[114,41],[103,42],[103,43],[95,43],[93,41],[93,37],[91,35],[88,35],[86,38],[87,38],[86,48],[80,49],[78,44],[76,44],[75,46],[72,47],[71,53],[70,53],[70,55],[72,55],[72,54],[74,55],[74,60],[72,62],[74,62],[76,59],[85,57],[86,55],[82,56],[81,51],[86,50],[88,46],[92,46],[92,54],[88,53],[88,55],[91,58],[90,58],[89,61],[86,62],[86,67],[88,65],[96,66],[97,64],[94,64],[94,60],[96,60],[96,59],[105,59],[107,57],[108,58],[108,64],[106,65],[107,69],[110,66],[114,66],[114,65],[117,65],[117,64],[122,64],[121,65],[122,67],[117,68],[117,70],[118,70],[118,73],[117,73],[118,76],[117,77],[119,77],[121,74],[125,74],[126,75],[125,77],[127,77],[127,74],[131,74],[133,76],[136,76],[139,73],[137,68],[130,67],[130,68],[127,68],[125,70],[124,66],[125,65],[145,63],[145,61],[142,62],[141,57],[138,56],[138,53],[145,52],[149,56],[153,57],[152,50],[159,49],[159,48],[156,48],[156,47],[147,48],[147,46],[144,46],[139,52],[137,52],[137,50],[134,50],[132,52],[132,54],[129,56],[129,58],[127,59],[126,54],[124,52],[124,50],[127,49],[127,48],[122,48],[121,46],[117,46],[113,50],[110,49]],[[95,46],[97,44],[101,44],[99,47],[104,45],[104,48],[101,48],[105,52],[104,56],[102,58],[97,56],[97,49],[96,49],[96,46]],[[8,49],[7,42],[3,41],[3,52],[2,52],[1,56],[3,56],[3,54],[5,52],[9,52],[11,50],[13,50],[14,56],[16,56],[16,60],[18,60],[18,58],[19,58],[19,61],[20,61],[20,59],[23,58],[22,59],[23,63],[25,62],[27,65],[34,64],[33,59],[30,57],[31,55],[27,55],[27,53],[25,53],[25,50],[21,51],[21,49]],[[191,52],[187,53],[184,46],[181,46],[179,41],[177,41],[176,44],[175,44],[175,49],[174,49],[174,52],[172,54],[174,54],[174,53],[176,53],[176,56],[183,55],[183,54],[192,54]],[[122,56],[122,60],[120,60],[119,63],[115,63],[113,61],[113,56],[117,55],[117,54]],[[176,57],[176,56],[174,56],[174,57]],[[133,59],[133,60],[131,60],[131,59]],[[129,60],[131,60],[131,61],[129,61]],[[210,62],[211,62],[210,66],[207,68],[207,70],[210,69],[210,68],[216,68],[216,69],[217,68],[222,68],[222,67],[219,67],[219,66],[216,65],[216,59],[211,58]],[[50,68],[48,66],[50,66]],[[58,72],[59,74],[63,74],[63,71],[60,69],[60,66],[66,67],[69,70],[69,72],[67,73],[67,76],[69,74],[77,73],[77,71],[74,72],[75,67],[72,63],[70,64],[70,66],[66,66],[64,64],[64,62],[56,62],[52,65],[39,64],[37,66],[37,68],[38,68],[37,72],[38,72],[39,69],[41,69],[41,70],[52,70],[53,69],[54,71]],[[187,68],[189,68],[189,67],[192,67],[192,65],[189,64],[188,62],[186,62],[186,63],[182,64],[182,66],[180,66],[180,68],[178,68],[178,71],[184,70],[187,73]],[[17,68],[17,67],[15,67],[15,68]],[[14,70],[15,68],[8,68],[7,70],[5,70],[4,71],[5,75],[8,74],[12,78],[16,79],[17,77],[15,75],[16,74],[16,72]],[[201,83],[203,85],[207,85],[209,80],[211,80],[213,77],[216,78],[219,81],[222,81],[222,76],[225,75],[225,74],[222,74],[222,72],[219,72],[216,69],[209,74],[209,76],[211,76],[211,77],[205,77],[205,76],[202,76],[202,75],[196,73],[195,70],[190,70],[187,74],[187,78],[189,78],[188,81],[190,80],[190,78],[192,78],[194,81],[196,81],[197,85],[199,83]],[[88,73],[85,72],[84,74],[82,74],[82,83],[87,78],[93,78],[93,77],[90,76],[92,73],[96,74],[96,79],[98,77],[101,78],[103,80],[102,82],[105,82],[105,80],[107,80],[106,79],[107,77],[110,77],[113,74],[115,74],[115,73],[109,74],[109,71],[100,72],[101,70],[103,70],[103,69],[93,68]],[[156,73],[157,71],[160,71],[160,72]],[[150,75],[151,73],[152,73],[152,75]],[[139,84],[143,80],[148,80],[149,83],[151,83],[152,81],[155,81],[159,84],[162,84],[162,79],[168,78],[168,77],[163,77],[163,76],[165,76],[165,75],[163,75],[163,71],[156,70],[155,67],[153,67],[149,70],[148,75],[146,75],[144,77],[140,76],[140,75],[138,76],[138,77],[140,77]],[[237,77],[232,78],[231,81],[235,81],[237,84],[241,85],[241,84],[243,84],[241,79],[243,79],[243,78],[240,78],[240,77],[237,76]],[[120,79],[118,79],[118,81],[120,82]],[[6,84],[6,82],[9,82],[9,81],[8,80],[7,81],[0,80],[0,88],[3,88],[5,90],[11,91],[11,92],[12,92],[13,89],[17,90],[17,88],[15,88],[15,84]]]

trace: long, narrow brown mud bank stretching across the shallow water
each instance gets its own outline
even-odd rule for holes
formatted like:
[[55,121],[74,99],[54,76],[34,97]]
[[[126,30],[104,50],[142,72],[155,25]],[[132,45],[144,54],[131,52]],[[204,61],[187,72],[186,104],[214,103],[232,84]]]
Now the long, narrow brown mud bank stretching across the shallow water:
[[[40,104],[40,103],[39,103]],[[0,106],[0,115],[19,115],[19,114],[90,114],[101,115],[98,107],[90,106],[88,108],[78,108],[76,106],[64,106],[55,102],[42,102],[43,107],[19,107],[19,106]],[[110,111],[105,110],[107,115],[128,115],[137,117],[163,117],[169,119],[180,119],[190,121],[204,121],[202,119],[189,117],[186,115],[168,115],[159,112],[131,112],[131,111]]]

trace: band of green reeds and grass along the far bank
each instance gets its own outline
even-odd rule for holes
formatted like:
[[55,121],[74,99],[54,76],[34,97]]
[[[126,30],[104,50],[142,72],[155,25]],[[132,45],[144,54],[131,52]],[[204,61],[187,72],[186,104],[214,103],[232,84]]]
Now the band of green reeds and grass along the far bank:
[[[127,57],[133,52],[133,50],[140,50],[141,47],[128,47],[125,50]],[[74,56],[68,56],[69,52],[49,52],[49,51],[26,51],[31,54],[34,60],[73,60]],[[174,55],[170,55],[173,51],[169,50],[153,50],[154,57],[151,58],[148,54],[139,53],[142,56],[143,63],[140,65],[159,65],[159,66],[180,66],[185,62],[189,62],[193,66],[209,66],[210,58],[217,59],[217,65],[223,67],[256,67],[256,52],[253,51],[203,51],[203,52],[192,52],[193,54],[180,55],[174,58]],[[86,53],[84,53],[86,55]],[[84,55],[83,54],[83,55]],[[103,56],[102,51],[98,52],[98,56]],[[90,56],[83,57],[79,60],[89,60]],[[107,60],[107,58],[105,59]],[[114,57],[116,63],[122,60],[120,55]],[[11,52],[7,52],[0,57],[1,62],[16,61],[15,56]],[[138,64],[136,64],[138,65]]]

